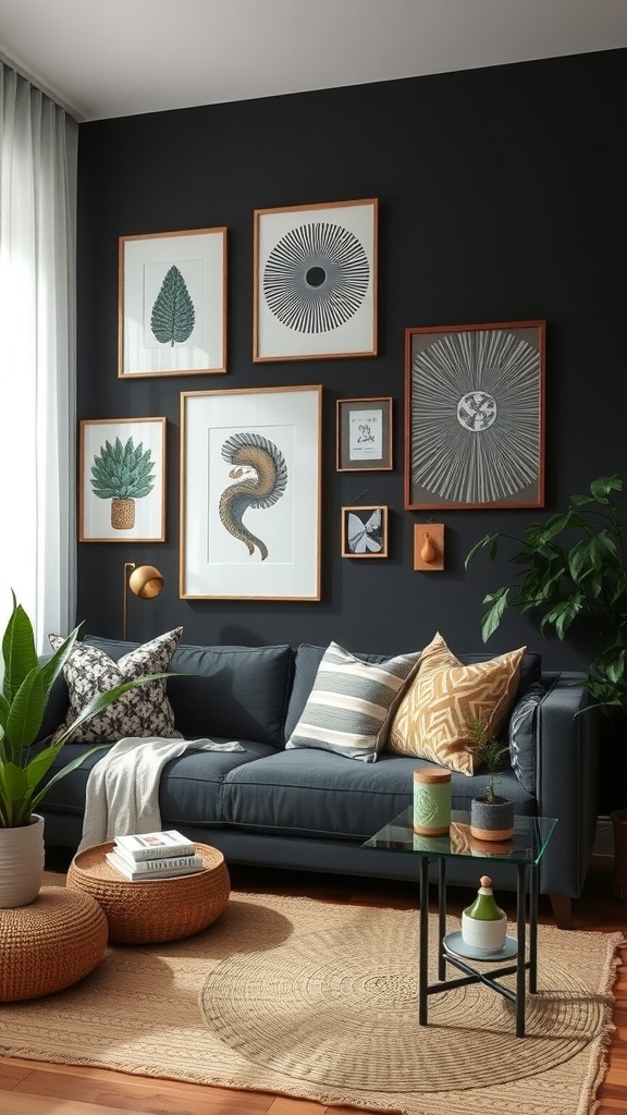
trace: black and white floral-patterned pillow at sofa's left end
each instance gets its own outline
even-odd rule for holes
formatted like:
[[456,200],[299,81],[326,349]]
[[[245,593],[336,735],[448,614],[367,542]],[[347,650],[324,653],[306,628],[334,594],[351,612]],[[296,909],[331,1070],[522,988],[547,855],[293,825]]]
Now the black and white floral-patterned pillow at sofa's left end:
[[[64,667],[69,707],[64,723],[52,736],[52,743],[70,727],[76,717],[98,694],[123,681],[162,673],[179,646],[183,628],[158,636],[151,642],[124,655],[117,662],[103,650],[77,642]],[[49,636],[52,650],[62,643],[60,636]],[[161,736],[181,739],[174,727],[174,712],[165,692],[165,679],[146,681],[129,689],[116,701],[77,728],[73,743],[115,744],[125,736]]]

